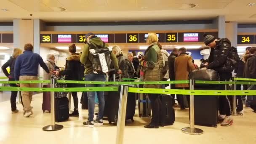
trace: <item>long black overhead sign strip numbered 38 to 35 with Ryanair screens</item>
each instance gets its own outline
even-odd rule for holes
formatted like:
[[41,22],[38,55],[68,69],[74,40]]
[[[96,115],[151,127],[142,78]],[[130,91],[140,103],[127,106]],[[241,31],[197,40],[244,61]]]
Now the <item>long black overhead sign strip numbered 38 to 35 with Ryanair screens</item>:
[[[203,35],[218,37],[218,32],[167,32],[157,33],[160,43],[203,42]],[[95,34],[105,43],[146,43],[148,33]],[[85,43],[85,33],[80,34],[41,34],[41,43]]]

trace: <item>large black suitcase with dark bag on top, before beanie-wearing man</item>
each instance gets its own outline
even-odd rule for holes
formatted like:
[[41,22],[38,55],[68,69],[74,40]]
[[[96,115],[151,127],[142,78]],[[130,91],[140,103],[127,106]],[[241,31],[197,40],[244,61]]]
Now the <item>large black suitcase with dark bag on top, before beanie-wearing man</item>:
[[[199,69],[189,73],[189,79],[219,80],[219,75],[212,69]],[[218,85],[195,84],[195,90],[218,90]],[[218,96],[194,96],[195,125],[217,127],[219,98]],[[190,114],[190,113],[189,113]]]

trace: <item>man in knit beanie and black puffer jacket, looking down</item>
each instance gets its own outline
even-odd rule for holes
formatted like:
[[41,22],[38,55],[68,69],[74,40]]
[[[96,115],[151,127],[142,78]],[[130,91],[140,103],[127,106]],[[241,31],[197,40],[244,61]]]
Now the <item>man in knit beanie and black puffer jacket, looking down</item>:
[[[227,38],[217,39],[213,35],[204,35],[204,43],[211,48],[211,53],[206,65],[207,69],[214,69],[219,73],[221,81],[229,81],[232,78],[232,61],[228,59],[232,51],[231,42]],[[225,90],[225,85],[219,85]],[[219,96],[219,122],[221,126],[232,125],[230,101],[227,96]]]

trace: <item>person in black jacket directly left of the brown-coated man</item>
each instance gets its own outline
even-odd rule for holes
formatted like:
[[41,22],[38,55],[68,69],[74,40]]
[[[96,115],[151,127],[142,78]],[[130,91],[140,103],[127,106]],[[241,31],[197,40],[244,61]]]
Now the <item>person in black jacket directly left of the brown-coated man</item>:
[[[168,56],[168,70],[169,70],[169,78],[170,80],[175,80],[175,72],[174,72],[174,60],[179,54],[179,50],[177,48],[174,48],[173,51],[170,53],[170,56]],[[171,84],[171,89],[175,89],[175,84]],[[178,106],[178,104],[175,103],[175,94],[171,95],[173,97],[173,104],[175,107]]]

